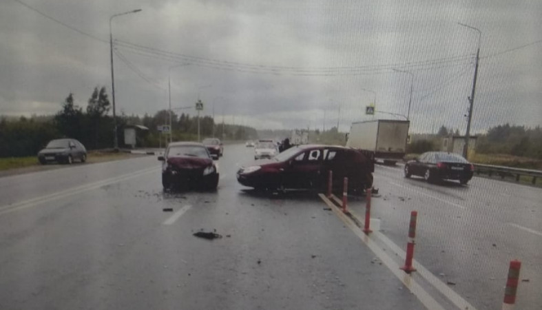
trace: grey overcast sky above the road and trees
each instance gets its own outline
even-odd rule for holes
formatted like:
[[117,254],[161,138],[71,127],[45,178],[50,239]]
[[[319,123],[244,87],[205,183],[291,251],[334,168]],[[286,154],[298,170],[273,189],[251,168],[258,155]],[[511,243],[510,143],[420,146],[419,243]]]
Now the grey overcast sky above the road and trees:
[[540,0],[1,0],[0,114],[54,114],[70,92],[83,108],[94,87],[110,93],[109,19],[134,9],[113,19],[118,113],[166,109],[179,65],[173,107],[199,96],[218,122],[347,131],[373,118],[374,99],[379,112],[408,113],[410,74],[395,68],[414,76],[414,132],[463,133],[478,34],[460,22],[482,32],[473,130],[542,124]]

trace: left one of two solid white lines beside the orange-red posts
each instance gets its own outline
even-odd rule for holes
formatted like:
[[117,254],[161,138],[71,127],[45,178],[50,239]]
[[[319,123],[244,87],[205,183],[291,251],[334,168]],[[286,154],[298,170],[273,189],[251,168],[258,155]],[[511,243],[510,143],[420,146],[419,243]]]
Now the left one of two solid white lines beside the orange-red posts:
[[396,276],[407,288],[409,291],[411,291],[418,300],[424,304],[424,306],[427,309],[435,309],[435,310],[444,310],[444,307],[441,306],[435,300],[432,298],[427,291],[425,291],[408,273],[405,273],[401,269],[399,269],[399,265],[386,254],[385,251],[380,249],[380,247],[373,241],[371,238],[369,238],[364,232],[357,227],[350,218],[348,218],[344,213],[336,207],[331,200],[326,198],[324,194],[318,194],[322,200],[324,200],[324,203],[328,205],[335,215],[342,220],[342,222],[350,228],[354,234],[361,239],[365,245],[373,251],[373,253],[379,258],[379,260],[388,267],[388,269],[393,273],[394,276]]

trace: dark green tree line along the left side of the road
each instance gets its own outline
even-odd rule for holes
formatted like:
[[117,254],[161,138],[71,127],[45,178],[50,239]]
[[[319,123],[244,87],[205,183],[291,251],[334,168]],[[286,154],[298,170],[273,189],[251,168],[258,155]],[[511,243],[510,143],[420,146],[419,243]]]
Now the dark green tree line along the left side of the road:
[[[87,107],[76,105],[74,94],[70,93],[61,103],[61,109],[54,116],[32,116],[8,118],[0,116],[0,157],[34,156],[48,141],[55,138],[75,138],[87,149],[106,149],[113,147],[114,119],[109,115],[110,101],[105,87],[95,87]],[[177,115],[172,119],[173,141],[196,141],[198,118],[189,114]],[[169,111],[160,110],[153,116],[116,116],[119,147],[124,147],[123,128],[126,125],[143,125],[149,130],[140,132],[138,146],[158,147],[165,136],[158,132],[158,125],[169,124]],[[252,127],[216,124],[211,116],[200,118],[202,138],[216,136],[225,140],[248,140],[257,138]]]

